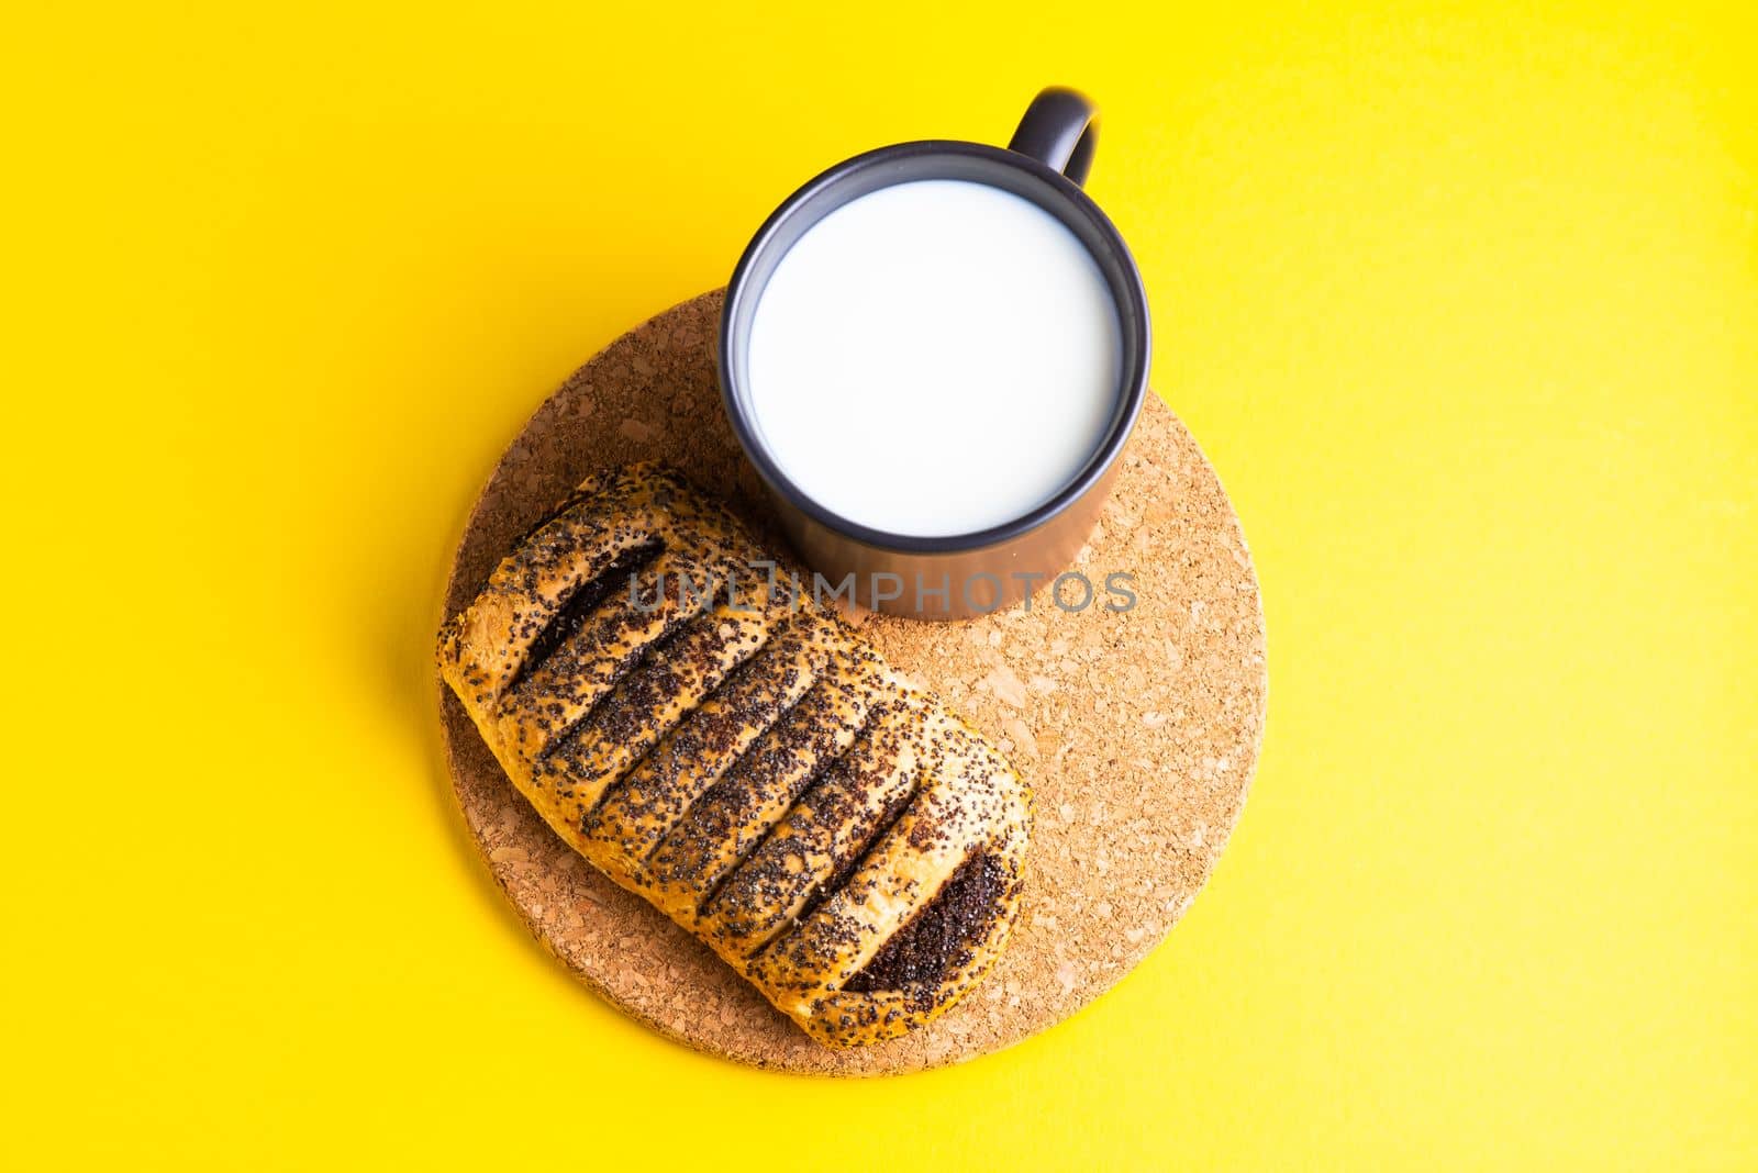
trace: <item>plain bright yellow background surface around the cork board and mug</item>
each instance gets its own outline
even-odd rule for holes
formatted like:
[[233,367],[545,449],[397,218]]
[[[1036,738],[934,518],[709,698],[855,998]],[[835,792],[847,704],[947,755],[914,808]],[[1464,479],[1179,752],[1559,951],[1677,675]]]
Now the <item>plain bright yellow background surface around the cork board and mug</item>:
[[[0,47],[0,1162],[1758,1164],[1749,23],[255,7],[30,5]],[[1262,576],[1245,820],[1013,1052],[698,1057],[468,850],[450,544],[796,183],[1004,142],[1044,83],[1104,105],[1155,385]]]

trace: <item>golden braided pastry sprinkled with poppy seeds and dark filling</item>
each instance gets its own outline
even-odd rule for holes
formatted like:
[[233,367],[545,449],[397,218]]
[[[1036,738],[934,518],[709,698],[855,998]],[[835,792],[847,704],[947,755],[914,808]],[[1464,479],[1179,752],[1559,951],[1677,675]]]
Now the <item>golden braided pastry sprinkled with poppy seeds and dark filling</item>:
[[607,471],[445,625],[440,673],[592,866],[812,1038],[874,1043],[1000,955],[1030,794],[772,565],[675,471]]

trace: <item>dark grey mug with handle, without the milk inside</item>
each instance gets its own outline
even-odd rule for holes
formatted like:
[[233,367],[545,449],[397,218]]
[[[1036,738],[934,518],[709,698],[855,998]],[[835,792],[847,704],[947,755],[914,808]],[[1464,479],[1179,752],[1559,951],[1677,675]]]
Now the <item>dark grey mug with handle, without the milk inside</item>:
[[[888,615],[958,620],[1042,597],[1092,534],[1116,460],[1148,393],[1148,297],[1123,237],[1081,190],[1092,167],[1097,111],[1051,88],[1025,111],[1007,149],[960,140],[900,142],[837,163],[763,223],[726,286],[721,397],[740,446],[775,500],[782,529],[825,588]],[[1090,460],[1042,506],[1004,525],[949,537],[888,534],[842,518],[803,493],[765,450],[749,393],[751,321],[788,249],[817,221],[870,191],[918,179],[981,183],[1030,200],[1065,225],[1099,265],[1123,342],[1122,386]],[[802,583],[802,590],[810,590]],[[1028,604],[1035,606],[1035,604]]]

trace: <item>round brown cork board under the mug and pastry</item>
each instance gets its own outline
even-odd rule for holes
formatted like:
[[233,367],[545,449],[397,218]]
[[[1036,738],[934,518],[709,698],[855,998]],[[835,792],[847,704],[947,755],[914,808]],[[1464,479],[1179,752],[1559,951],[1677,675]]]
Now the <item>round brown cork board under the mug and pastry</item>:
[[[582,367],[506,450],[471,513],[445,613],[468,606],[519,537],[591,471],[663,458],[786,546],[726,425],[714,372],[721,293],[684,302]],[[1215,471],[1148,397],[1125,467],[1072,569],[1097,601],[1039,595],[969,623],[853,616],[898,669],[939,690],[1034,787],[1028,880],[995,969],[900,1040],[830,1050],[707,946],[599,876],[531,811],[441,685],[459,804],[538,939],[635,1018],[705,1052],[789,1071],[883,1075],[999,1050],[1069,1017],[1139,962],[1220,855],[1264,723],[1257,579]],[[1104,578],[1137,602],[1108,611]],[[1078,583],[1064,601],[1079,602]]]

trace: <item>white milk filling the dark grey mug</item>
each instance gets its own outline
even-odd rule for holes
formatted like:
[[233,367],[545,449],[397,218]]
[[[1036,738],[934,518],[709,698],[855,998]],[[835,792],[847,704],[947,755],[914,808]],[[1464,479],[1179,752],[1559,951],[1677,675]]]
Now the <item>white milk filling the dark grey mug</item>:
[[879,188],[782,256],[749,341],[749,407],[802,493],[886,534],[1004,525],[1104,443],[1123,363],[1086,246],[962,179]]

